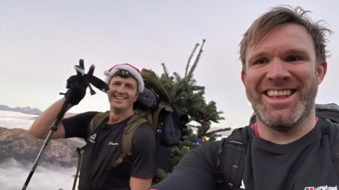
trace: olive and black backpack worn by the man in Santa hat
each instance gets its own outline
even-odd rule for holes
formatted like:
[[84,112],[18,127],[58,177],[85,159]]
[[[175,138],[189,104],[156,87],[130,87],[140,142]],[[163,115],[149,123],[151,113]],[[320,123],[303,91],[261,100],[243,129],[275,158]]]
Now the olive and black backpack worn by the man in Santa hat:
[[[160,81],[155,75],[155,72],[147,69],[141,70],[141,76],[145,83],[145,88],[153,91],[157,98],[157,103],[151,108],[145,108],[141,106],[141,103],[136,101],[133,106],[133,110],[136,114],[127,123],[124,134],[121,139],[121,149],[122,154],[117,158],[117,160],[112,160],[112,167],[116,167],[123,162],[124,159],[132,155],[133,147],[132,140],[133,134],[136,132],[136,129],[143,124],[148,122],[148,125],[153,129],[155,134],[155,139],[157,141],[156,150],[155,150],[155,165],[157,170],[161,169],[165,172],[167,171],[169,158],[171,157],[171,147],[179,144],[179,141],[182,137],[182,129],[186,128],[186,123],[189,118],[186,114],[179,110],[175,106],[171,106],[169,95],[165,87],[162,86]],[[102,122],[108,117],[109,110],[106,112],[97,113],[93,119],[90,121],[88,126],[88,137],[93,134],[95,128],[101,125]],[[83,149],[77,148],[78,152],[78,167],[76,170],[76,175],[74,177],[73,189],[76,186],[76,180],[78,178],[78,173],[81,166],[81,157]],[[155,173],[153,180],[157,180],[159,177]]]

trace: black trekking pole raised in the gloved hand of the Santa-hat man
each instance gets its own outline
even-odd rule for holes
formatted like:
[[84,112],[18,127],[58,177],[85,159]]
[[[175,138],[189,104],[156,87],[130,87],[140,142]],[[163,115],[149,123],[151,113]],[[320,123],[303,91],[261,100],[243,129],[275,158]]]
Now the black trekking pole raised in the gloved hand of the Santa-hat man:
[[[88,84],[88,87],[90,88],[90,94],[91,95],[94,95],[95,91],[90,87],[90,84],[92,84],[94,87],[96,87],[97,89],[100,89],[103,92],[107,92],[109,90],[109,87],[108,87],[108,85],[105,82],[103,82],[102,80],[100,80],[97,77],[93,76],[93,72],[94,72],[94,68],[95,68],[94,65],[90,66],[90,70],[88,70],[87,75],[85,74],[85,67],[83,65],[83,60],[82,59],[79,61],[79,65],[76,65],[75,68],[76,68],[76,71],[77,72],[81,72],[81,75],[83,75],[83,77],[85,78],[85,80],[86,80],[86,82]],[[63,93],[60,93],[60,94],[63,94]],[[69,93],[69,94],[71,94],[71,93]],[[37,158],[35,159],[34,165],[33,165],[32,169],[30,170],[30,174],[28,175],[28,177],[26,179],[26,182],[23,185],[23,189],[22,190],[25,190],[27,188],[28,183],[30,182],[30,179],[32,178],[32,175],[34,174],[35,169],[37,168],[37,163],[39,162],[40,157],[42,156],[42,152],[44,151],[44,149],[46,148],[47,144],[51,140],[53,132],[55,132],[58,129],[58,125],[59,125],[60,121],[62,120],[62,118],[64,118],[64,115],[65,115],[65,113],[67,111],[67,108],[69,106],[69,94],[66,95],[65,101],[64,101],[64,103],[62,104],[62,106],[61,106],[61,108],[59,110],[57,118],[55,118],[54,122],[49,127],[50,128],[49,133],[48,133],[46,139],[44,140],[44,144],[42,145],[42,147],[40,149],[40,152],[37,155]]]

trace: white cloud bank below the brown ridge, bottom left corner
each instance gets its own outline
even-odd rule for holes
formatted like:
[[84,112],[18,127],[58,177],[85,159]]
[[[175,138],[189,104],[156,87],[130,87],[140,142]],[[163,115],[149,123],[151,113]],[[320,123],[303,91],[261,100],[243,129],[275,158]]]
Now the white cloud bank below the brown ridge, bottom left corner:
[[[23,184],[30,173],[32,163],[18,163],[14,159],[7,160],[0,164],[0,186],[1,189],[14,190],[22,189]],[[73,175],[76,173],[76,167],[63,168],[41,163],[37,165],[27,190],[59,190],[72,189]]]

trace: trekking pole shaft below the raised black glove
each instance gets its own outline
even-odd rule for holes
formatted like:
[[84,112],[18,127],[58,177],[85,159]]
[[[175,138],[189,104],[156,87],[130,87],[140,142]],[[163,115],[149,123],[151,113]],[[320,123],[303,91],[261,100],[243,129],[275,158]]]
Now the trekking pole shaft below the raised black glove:
[[55,132],[58,129],[58,125],[59,125],[61,119],[64,118],[64,115],[65,115],[68,107],[69,107],[69,96],[66,96],[66,99],[65,99],[64,103],[62,104],[62,106],[59,110],[57,118],[55,118],[53,124],[49,127],[49,129],[50,129],[49,133],[48,133],[46,139],[44,140],[44,144],[42,145],[40,152],[37,155],[37,158],[35,159],[34,165],[32,166],[32,169],[30,170],[30,174],[28,175],[28,177],[25,181],[25,184],[23,185],[22,190],[25,190],[28,186],[28,183],[30,183],[30,179],[32,178],[32,175],[34,174],[35,169],[37,168],[37,163],[39,162],[40,157],[42,156],[42,152],[44,151],[44,149],[47,147],[47,144],[51,140],[53,132]]

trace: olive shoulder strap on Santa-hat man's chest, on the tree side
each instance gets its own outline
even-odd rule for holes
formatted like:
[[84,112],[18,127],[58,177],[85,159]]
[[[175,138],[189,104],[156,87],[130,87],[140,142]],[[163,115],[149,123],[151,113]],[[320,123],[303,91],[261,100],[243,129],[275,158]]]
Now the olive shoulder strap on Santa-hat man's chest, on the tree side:
[[111,165],[113,167],[116,167],[117,165],[122,163],[124,158],[126,158],[127,156],[131,156],[133,154],[132,153],[133,152],[133,147],[132,147],[133,135],[136,132],[136,129],[144,122],[147,122],[147,120],[138,114],[133,115],[131,120],[129,120],[129,122],[127,123],[124,129],[124,134],[122,134],[122,139],[121,139],[122,153],[117,158],[117,160],[112,161]]

